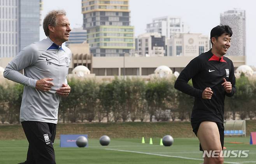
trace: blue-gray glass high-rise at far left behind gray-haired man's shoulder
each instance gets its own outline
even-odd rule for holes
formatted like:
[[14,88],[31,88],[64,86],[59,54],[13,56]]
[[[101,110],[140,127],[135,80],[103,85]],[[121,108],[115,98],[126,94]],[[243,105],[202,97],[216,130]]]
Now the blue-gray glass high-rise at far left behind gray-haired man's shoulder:
[[40,0],[0,0],[0,57],[39,41]]

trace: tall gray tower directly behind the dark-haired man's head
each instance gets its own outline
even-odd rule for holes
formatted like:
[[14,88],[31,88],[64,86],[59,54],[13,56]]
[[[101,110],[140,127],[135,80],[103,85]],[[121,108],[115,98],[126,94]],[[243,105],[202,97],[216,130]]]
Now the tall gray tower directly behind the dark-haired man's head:
[[232,28],[231,46],[226,55],[245,56],[245,10],[228,10],[220,16],[221,24]]

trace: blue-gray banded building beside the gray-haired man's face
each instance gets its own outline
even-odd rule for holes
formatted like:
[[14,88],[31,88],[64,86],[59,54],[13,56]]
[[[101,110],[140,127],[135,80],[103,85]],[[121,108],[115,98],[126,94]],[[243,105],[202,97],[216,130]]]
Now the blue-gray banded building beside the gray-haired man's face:
[[74,28],[69,33],[68,41],[66,41],[66,46],[69,44],[81,44],[87,39],[87,32],[82,27]]

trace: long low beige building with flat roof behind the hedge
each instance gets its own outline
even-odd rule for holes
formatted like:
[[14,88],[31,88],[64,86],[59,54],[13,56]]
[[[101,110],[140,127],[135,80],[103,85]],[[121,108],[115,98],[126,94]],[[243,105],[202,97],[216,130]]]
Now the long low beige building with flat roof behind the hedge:
[[[235,69],[245,64],[244,56],[228,56],[234,64]],[[93,71],[96,77],[114,78],[118,77],[142,77],[150,78],[156,68],[165,65],[172,72],[181,72],[184,67],[195,56],[162,56],[162,57],[93,57]]]

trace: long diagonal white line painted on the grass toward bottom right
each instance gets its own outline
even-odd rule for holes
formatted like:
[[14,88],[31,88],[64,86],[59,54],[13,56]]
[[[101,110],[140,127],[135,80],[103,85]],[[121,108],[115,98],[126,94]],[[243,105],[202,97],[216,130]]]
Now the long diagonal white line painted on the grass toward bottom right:
[[[181,158],[181,159],[192,159],[197,161],[203,161],[203,159],[197,159],[197,158],[189,158],[189,157],[181,157],[181,156],[173,156],[173,155],[164,155],[164,154],[155,154],[155,153],[146,153],[146,152],[137,152],[137,151],[130,151],[130,150],[119,150],[119,149],[105,149],[105,150],[113,150],[113,151],[119,151],[119,152],[130,152],[130,153],[139,153],[139,154],[147,154],[147,155],[158,155],[162,157],[173,157],[173,158]],[[255,163],[255,161],[248,161],[248,162],[224,162],[227,164],[241,164],[241,163]]]

